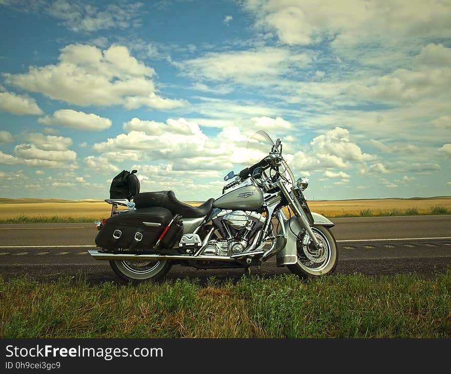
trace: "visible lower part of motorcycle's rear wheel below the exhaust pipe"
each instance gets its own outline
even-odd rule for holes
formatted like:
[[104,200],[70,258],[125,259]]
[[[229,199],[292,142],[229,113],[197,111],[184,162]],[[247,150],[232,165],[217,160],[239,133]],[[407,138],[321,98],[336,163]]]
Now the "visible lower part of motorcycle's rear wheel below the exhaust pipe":
[[139,283],[164,277],[171,269],[169,260],[159,261],[110,261],[111,268],[127,282]]

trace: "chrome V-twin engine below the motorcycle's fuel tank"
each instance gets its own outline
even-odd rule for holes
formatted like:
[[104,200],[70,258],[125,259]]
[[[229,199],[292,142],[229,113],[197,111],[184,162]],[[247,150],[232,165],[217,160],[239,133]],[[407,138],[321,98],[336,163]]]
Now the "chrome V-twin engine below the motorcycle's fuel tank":
[[266,218],[257,212],[219,211],[212,218],[219,235],[209,241],[204,253],[231,256],[245,251],[265,222]]

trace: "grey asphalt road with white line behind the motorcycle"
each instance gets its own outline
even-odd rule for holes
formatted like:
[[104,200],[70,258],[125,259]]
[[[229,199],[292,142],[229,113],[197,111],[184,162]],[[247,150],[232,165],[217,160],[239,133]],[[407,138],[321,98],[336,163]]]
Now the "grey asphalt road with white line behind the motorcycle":
[[[359,217],[333,219],[339,247],[337,273],[388,275],[416,272],[432,277],[451,267],[451,216]],[[93,223],[0,225],[0,274],[46,281],[68,275],[85,275],[89,281],[117,281],[107,261],[87,253],[95,247]],[[252,268],[253,274],[289,273],[275,259]],[[242,269],[197,270],[175,265],[167,278],[201,280],[239,278]]]

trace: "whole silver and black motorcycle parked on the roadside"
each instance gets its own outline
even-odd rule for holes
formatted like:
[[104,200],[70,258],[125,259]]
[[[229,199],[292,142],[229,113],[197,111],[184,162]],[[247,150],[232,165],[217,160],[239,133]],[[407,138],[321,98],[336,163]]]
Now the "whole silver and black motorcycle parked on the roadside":
[[334,223],[310,211],[303,193],[309,179],[295,181],[280,139],[274,143],[258,131],[248,144],[268,147],[266,156],[227,174],[222,195],[199,206],[179,201],[173,191],[140,193],[136,171],[123,171],[116,178],[128,188],[113,179],[105,200],[111,216],[97,222],[100,249],[89,254],[108,260],[127,282],[162,278],[173,264],[249,268],[274,256],[277,266],[301,278],[331,274],[338,260]]

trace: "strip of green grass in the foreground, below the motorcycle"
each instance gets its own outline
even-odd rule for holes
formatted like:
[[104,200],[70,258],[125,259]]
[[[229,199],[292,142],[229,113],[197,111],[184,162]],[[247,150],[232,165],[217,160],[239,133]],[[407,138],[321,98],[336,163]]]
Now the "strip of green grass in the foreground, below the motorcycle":
[[451,271],[120,286],[0,278],[0,338],[450,338]]

